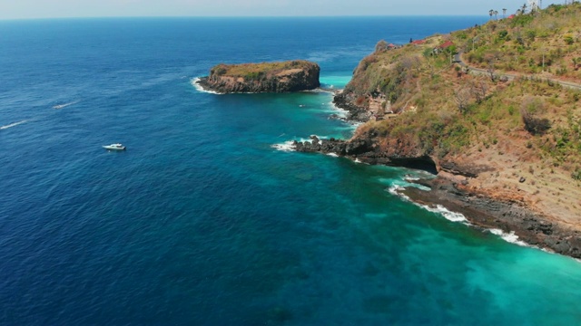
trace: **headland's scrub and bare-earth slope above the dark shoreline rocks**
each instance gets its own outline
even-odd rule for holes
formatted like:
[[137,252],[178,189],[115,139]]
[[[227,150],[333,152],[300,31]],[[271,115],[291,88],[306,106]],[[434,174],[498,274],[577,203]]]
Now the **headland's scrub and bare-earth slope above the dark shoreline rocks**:
[[490,167],[468,187],[573,221],[581,212],[581,90],[560,82],[581,83],[578,26],[581,5],[551,5],[511,18],[493,13],[487,24],[397,49],[378,43],[342,94],[375,117],[354,139],[437,164]]

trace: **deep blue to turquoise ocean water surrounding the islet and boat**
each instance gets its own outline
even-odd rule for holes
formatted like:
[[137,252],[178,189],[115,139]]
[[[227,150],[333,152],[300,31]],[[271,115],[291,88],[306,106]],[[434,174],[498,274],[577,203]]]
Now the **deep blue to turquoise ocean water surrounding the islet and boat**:
[[419,171],[273,147],[349,138],[330,93],[192,86],[308,59],[340,88],[380,39],[485,19],[0,22],[0,323],[579,324],[575,260],[389,193]]

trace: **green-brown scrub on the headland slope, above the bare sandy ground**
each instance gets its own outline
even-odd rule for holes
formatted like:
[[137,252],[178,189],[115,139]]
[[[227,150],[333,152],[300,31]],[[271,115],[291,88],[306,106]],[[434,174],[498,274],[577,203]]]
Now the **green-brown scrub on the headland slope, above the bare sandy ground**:
[[[559,19],[562,16],[566,19]],[[539,149],[536,154],[547,165],[572,172],[580,170],[581,92],[551,82],[558,74],[531,74],[539,62],[532,71],[528,65],[510,63],[515,60],[513,50],[520,52],[517,62],[528,62],[527,58],[537,59],[538,49],[543,46],[547,53],[566,53],[563,64],[566,58],[581,57],[581,40],[575,39],[566,50],[562,49],[566,44],[564,35],[577,31],[574,26],[579,23],[581,5],[552,5],[538,13],[432,36],[421,44],[410,43],[396,50],[379,47],[379,51],[359,63],[345,92],[356,104],[371,107],[380,118],[386,110],[399,116],[369,122],[358,132],[373,129],[381,137],[410,136],[409,140],[426,154],[439,158],[461,153],[468,147],[489,149],[499,139],[518,136],[527,139],[526,150]],[[561,27],[556,30],[556,26]],[[542,35],[550,33],[551,41],[527,39],[526,46],[516,41],[519,36],[515,35],[529,34],[531,30]],[[581,37],[581,29],[578,32]],[[478,38],[477,44],[472,43],[474,38]],[[452,45],[439,47],[446,42]],[[464,53],[470,65],[471,57],[492,58],[490,66],[481,66],[487,73],[467,73],[453,62],[458,51]],[[508,72],[522,73],[522,77],[514,81],[502,78],[505,62],[512,64]],[[559,64],[556,56],[547,56],[547,69],[565,71]],[[569,68],[570,80],[581,82],[581,74],[576,78],[576,70]]]

